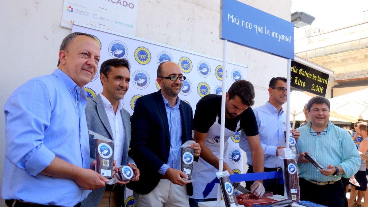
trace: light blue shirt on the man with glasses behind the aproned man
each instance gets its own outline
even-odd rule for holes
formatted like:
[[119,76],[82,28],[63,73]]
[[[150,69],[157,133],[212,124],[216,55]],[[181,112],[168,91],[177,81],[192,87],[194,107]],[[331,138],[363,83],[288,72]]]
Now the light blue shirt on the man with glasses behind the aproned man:
[[[280,114],[278,110],[270,103],[253,109],[257,119],[258,133],[265,153],[265,167],[278,168],[282,167],[282,160],[276,156],[276,148],[278,146],[286,146],[284,131],[286,115],[281,108]],[[240,135],[239,146],[247,153],[247,164],[252,165],[251,149],[247,140],[247,136],[243,131]]]

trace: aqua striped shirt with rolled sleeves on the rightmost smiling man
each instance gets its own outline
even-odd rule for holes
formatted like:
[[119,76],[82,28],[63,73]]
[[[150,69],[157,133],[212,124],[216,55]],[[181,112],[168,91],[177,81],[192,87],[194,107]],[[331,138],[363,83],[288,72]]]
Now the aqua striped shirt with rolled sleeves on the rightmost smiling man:
[[341,176],[350,178],[354,175],[360,167],[360,156],[350,134],[329,121],[327,128],[323,130],[327,130],[327,134],[313,136],[310,132],[315,131],[311,128],[311,123],[309,122],[307,125],[298,128],[300,131],[300,137],[297,142],[299,152],[308,152],[325,169],[330,164],[339,165],[345,174],[340,174],[336,177],[332,175],[326,176],[318,172],[311,163],[299,163],[299,176],[306,180],[326,182],[337,180]]

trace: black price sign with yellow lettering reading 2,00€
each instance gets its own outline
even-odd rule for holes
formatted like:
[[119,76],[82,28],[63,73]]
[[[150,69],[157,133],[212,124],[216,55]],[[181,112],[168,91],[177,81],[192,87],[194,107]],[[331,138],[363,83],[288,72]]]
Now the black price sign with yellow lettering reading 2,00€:
[[291,61],[290,85],[312,94],[325,96],[328,77],[316,69],[305,66],[301,63]]

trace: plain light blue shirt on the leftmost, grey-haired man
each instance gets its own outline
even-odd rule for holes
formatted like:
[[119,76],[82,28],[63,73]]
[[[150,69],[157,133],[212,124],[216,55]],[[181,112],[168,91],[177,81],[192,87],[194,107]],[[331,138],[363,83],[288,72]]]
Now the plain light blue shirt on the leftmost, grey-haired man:
[[55,156],[89,168],[85,97],[86,92],[59,69],[27,81],[10,95],[4,106],[4,199],[74,206],[91,192],[74,180],[39,174]]

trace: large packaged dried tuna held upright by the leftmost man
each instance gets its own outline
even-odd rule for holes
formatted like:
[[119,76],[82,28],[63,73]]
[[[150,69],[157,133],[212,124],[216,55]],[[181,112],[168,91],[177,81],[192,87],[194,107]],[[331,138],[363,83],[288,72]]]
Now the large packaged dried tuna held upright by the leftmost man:
[[114,175],[114,141],[91,130],[88,131],[89,134],[92,134],[93,138],[95,139],[95,171],[105,176],[106,178],[112,178]]

